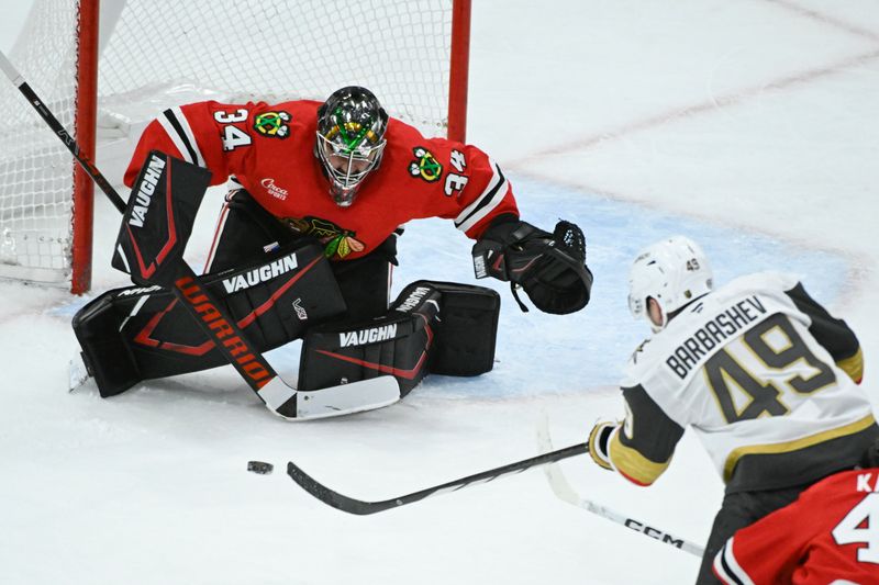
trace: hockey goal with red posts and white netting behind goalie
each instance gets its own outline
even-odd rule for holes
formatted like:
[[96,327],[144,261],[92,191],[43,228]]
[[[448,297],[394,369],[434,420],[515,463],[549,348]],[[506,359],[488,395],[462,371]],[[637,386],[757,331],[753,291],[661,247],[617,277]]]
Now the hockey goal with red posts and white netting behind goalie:
[[[97,92],[77,103],[80,18],[96,4],[35,0],[9,57],[78,142],[90,128],[77,106],[94,99],[93,158],[114,184],[155,115],[205,99],[320,100],[360,85],[426,135],[464,139],[469,0],[103,0]],[[74,222],[73,157],[1,85],[0,277],[84,292],[90,258],[75,248],[87,241],[90,257],[90,237],[75,232],[91,225]]]

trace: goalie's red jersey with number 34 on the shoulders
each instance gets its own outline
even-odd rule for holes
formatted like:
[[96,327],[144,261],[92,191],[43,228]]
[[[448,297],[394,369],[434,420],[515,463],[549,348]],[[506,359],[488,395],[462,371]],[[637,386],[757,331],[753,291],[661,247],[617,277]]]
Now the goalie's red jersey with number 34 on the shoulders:
[[410,220],[453,220],[468,237],[478,238],[497,216],[518,217],[509,181],[485,153],[425,138],[394,119],[388,123],[379,167],[353,205],[336,205],[314,156],[320,105],[209,101],[166,110],[144,131],[125,184],[131,187],[153,149],[207,167],[213,172],[211,184],[234,176],[263,207],[296,230],[338,243],[327,249],[333,260],[369,254]]

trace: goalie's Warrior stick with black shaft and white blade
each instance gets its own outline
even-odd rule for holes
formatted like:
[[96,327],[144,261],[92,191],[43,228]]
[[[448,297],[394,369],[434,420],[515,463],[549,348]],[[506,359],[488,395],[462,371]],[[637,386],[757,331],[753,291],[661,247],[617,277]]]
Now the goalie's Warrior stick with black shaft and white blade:
[[[0,69],[65,144],[113,205],[123,214],[126,213],[126,204],[113,185],[81,151],[76,139],[46,108],[3,52],[0,52]],[[251,390],[276,415],[287,419],[324,418],[371,410],[400,400],[400,386],[391,375],[309,392],[297,392],[294,387],[281,380],[265,357],[247,340],[246,335],[234,319],[226,316],[225,311],[212,293],[199,284],[192,268],[182,258],[171,268],[174,280],[169,288],[175,296]]]

